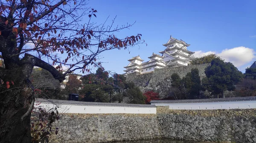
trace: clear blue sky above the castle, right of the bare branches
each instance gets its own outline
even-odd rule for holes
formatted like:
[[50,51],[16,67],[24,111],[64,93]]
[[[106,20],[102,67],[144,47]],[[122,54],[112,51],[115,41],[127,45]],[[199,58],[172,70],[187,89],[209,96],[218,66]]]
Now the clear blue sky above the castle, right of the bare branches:
[[98,24],[116,15],[115,25],[136,21],[116,35],[142,34],[148,45],[102,53],[106,70],[124,73],[127,60],[137,55],[148,61],[165,49],[170,35],[197,55],[216,53],[243,72],[256,60],[256,0],[89,0],[88,6],[98,11]]

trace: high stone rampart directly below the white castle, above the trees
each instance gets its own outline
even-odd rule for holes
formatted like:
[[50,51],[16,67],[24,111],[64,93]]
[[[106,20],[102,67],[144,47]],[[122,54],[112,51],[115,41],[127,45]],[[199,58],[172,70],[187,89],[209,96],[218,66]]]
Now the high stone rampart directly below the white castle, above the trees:
[[126,80],[133,81],[143,92],[154,90],[159,93],[160,98],[164,98],[169,93],[172,81],[171,76],[173,73],[177,73],[181,78],[183,78],[186,76],[186,73],[191,72],[192,68],[197,68],[199,70],[199,76],[203,78],[205,77],[204,69],[208,65],[209,64],[199,64],[185,67],[166,67],[162,69],[155,69],[152,73],[145,73],[141,75],[131,73],[126,76]]

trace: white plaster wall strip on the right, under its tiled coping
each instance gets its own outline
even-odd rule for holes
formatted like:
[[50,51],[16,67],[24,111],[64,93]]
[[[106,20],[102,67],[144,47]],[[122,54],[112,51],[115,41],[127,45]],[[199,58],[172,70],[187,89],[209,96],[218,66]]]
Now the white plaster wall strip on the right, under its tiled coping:
[[227,101],[227,102],[202,102],[202,103],[172,103],[152,104],[156,106],[169,106],[169,109],[250,109],[256,108],[256,101]]

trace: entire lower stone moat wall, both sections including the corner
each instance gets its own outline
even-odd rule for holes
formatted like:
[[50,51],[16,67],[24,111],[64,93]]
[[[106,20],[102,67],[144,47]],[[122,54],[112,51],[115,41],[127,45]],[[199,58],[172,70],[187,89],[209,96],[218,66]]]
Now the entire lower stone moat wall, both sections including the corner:
[[148,138],[256,143],[256,109],[172,110],[157,114],[66,113],[51,143],[99,143]]

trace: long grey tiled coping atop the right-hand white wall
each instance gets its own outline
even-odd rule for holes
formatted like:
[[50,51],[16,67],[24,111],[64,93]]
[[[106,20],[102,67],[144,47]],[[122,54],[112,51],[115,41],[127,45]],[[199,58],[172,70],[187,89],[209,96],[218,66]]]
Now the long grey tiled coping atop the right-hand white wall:
[[199,103],[199,102],[227,102],[227,101],[250,101],[256,100],[256,96],[231,97],[231,98],[209,98],[209,99],[186,99],[186,100],[151,100],[152,103]]

